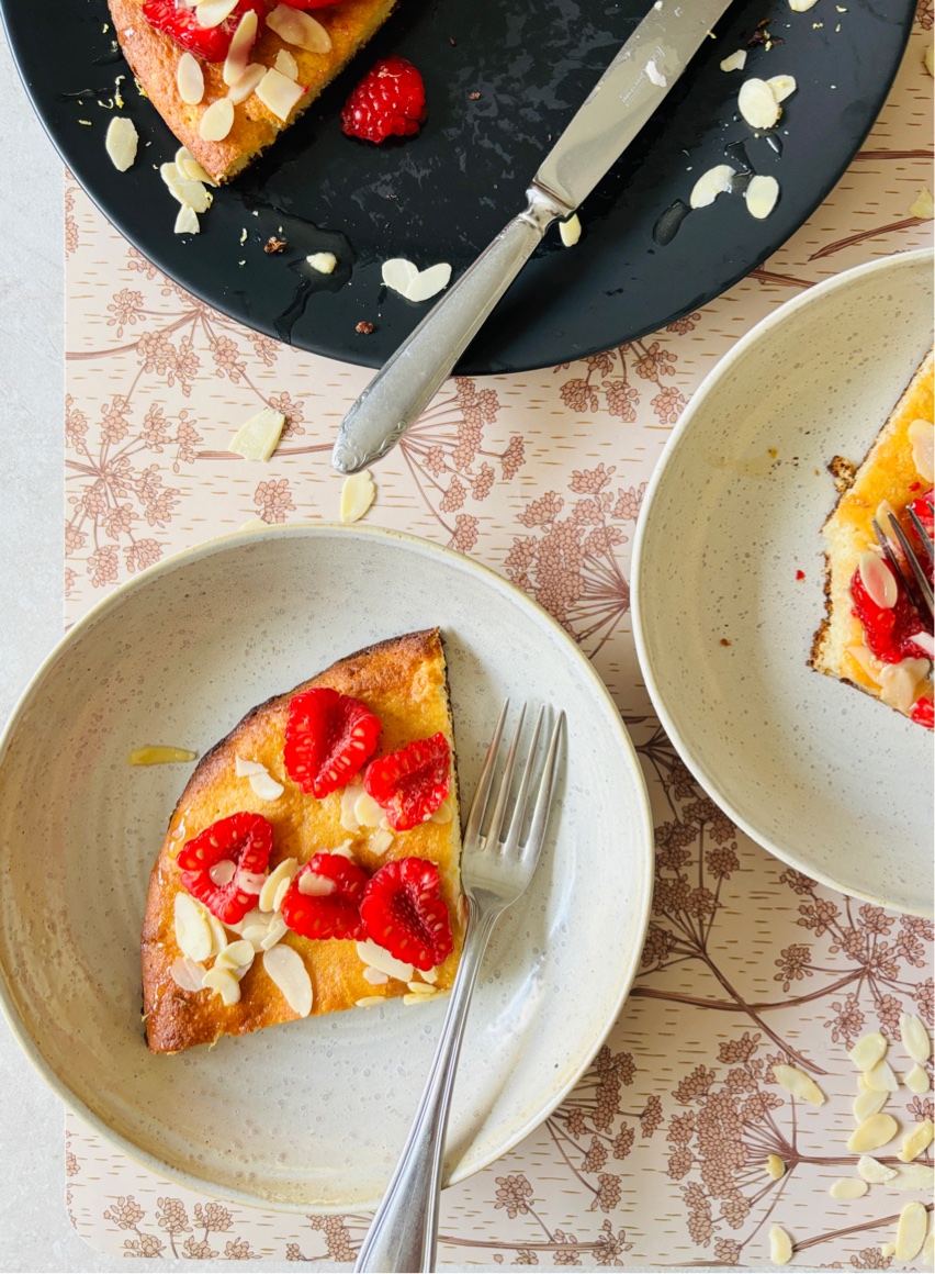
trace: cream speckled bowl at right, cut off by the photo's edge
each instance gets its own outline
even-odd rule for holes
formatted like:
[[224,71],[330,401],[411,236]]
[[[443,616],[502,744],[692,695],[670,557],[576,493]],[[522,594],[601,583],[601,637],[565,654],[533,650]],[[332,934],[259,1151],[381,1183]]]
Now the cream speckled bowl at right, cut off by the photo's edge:
[[806,659],[837,498],[828,461],[861,459],[931,339],[927,251],[838,275],[760,322],[679,422],[633,564],[646,684],[696,777],[786,862],[921,915],[931,736]]

